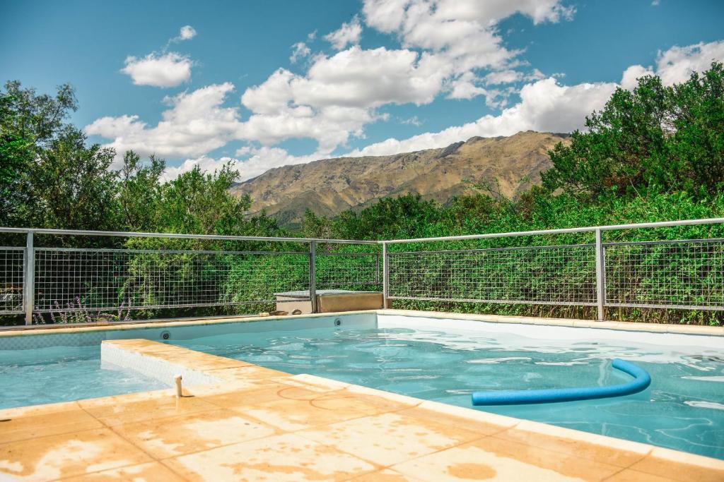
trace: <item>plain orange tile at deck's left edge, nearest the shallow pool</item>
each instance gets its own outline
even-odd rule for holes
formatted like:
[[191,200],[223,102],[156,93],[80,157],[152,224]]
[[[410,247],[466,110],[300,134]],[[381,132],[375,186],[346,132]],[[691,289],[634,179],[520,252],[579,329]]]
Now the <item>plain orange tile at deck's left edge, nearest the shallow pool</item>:
[[0,410],[0,444],[102,426],[76,402],[9,408]]

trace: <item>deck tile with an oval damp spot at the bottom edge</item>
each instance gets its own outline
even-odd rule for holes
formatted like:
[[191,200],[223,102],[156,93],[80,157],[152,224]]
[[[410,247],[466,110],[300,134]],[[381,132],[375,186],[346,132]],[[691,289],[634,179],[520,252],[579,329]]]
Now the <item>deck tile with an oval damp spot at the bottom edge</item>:
[[[477,447],[476,444],[465,444],[460,447],[442,450],[432,455],[425,455],[407,462],[393,465],[392,469],[410,477],[429,482],[461,482],[461,481],[511,481],[511,482],[581,482],[600,481],[601,477],[587,474],[581,477],[561,473],[559,470],[546,467],[535,462],[520,458],[501,455]],[[620,470],[620,469],[616,469]]]

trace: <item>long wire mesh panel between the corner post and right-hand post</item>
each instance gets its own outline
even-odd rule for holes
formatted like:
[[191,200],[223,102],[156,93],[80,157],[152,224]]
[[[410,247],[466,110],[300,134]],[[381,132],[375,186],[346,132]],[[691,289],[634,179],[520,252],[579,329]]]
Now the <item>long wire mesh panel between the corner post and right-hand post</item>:
[[389,254],[389,298],[596,304],[592,244]]

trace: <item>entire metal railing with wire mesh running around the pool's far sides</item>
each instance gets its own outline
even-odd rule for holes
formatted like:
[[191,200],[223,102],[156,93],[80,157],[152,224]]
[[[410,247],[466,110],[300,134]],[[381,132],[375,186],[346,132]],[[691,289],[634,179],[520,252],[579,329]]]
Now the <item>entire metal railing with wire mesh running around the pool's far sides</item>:
[[[609,231],[696,225],[720,234],[603,241]],[[597,319],[612,307],[724,311],[724,218],[389,241],[22,228],[0,233],[25,236],[25,246],[0,246],[0,314],[25,314],[28,324],[33,314],[269,305],[277,303],[277,293],[290,291],[303,293],[295,301],[311,301],[316,311],[321,289],[382,290],[384,306],[396,299],[596,306]],[[571,235],[585,239],[572,242]],[[125,242],[38,247],[36,236]],[[551,242],[561,237],[564,242]],[[128,243],[143,238],[158,242],[150,249]],[[520,242],[458,246],[507,238]],[[221,246],[158,247],[163,240]],[[252,248],[231,249],[232,242]]]

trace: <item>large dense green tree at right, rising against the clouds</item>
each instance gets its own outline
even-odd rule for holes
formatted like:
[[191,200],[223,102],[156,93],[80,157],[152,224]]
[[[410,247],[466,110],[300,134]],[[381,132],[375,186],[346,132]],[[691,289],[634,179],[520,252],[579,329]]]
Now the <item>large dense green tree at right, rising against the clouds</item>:
[[615,90],[586,118],[587,132],[549,152],[543,173],[551,191],[579,199],[635,197],[647,189],[714,194],[724,181],[724,71],[714,62],[672,87],[648,75],[633,90]]

